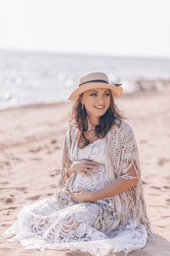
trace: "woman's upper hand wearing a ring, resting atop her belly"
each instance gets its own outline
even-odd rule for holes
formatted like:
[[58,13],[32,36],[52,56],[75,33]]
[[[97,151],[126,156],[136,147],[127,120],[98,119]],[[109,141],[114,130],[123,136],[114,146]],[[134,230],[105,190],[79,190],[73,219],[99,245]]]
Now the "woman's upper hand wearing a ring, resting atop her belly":
[[[101,164],[90,160],[82,159],[80,161],[73,162],[68,169],[67,176],[70,177],[72,173],[81,173],[86,177],[91,177],[91,174],[97,175],[96,171],[101,171]],[[93,169],[93,170],[92,170]]]

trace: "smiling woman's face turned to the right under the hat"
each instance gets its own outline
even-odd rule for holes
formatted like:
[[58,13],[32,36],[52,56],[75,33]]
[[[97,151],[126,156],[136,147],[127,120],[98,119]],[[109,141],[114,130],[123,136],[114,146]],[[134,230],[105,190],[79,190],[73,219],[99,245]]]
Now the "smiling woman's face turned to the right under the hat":
[[88,90],[80,98],[88,117],[95,119],[104,115],[110,106],[110,93],[106,88]]

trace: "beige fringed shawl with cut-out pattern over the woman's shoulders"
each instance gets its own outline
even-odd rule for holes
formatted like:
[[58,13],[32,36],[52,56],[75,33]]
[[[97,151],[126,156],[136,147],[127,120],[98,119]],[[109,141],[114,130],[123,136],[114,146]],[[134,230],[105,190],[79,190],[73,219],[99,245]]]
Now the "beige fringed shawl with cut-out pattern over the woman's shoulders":
[[[129,219],[137,220],[144,224],[150,231],[150,221],[147,216],[144,191],[141,183],[139,156],[135,136],[130,125],[121,121],[118,127],[114,125],[107,134],[105,146],[105,163],[109,182],[119,177],[132,178],[126,171],[133,165],[138,178],[137,186],[134,186],[116,196],[97,200],[100,204],[101,214],[95,223],[95,228],[103,231],[108,236],[119,233]],[[65,137],[62,157],[62,170],[60,173],[59,187],[56,192],[61,204],[70,204],[69,195],[72,192],[72,184],[76,173],[68,179],[66,171],[74,161],[77,161],[77,128],[71,126]],[[137,166],[137,168],[135,167]],[[114,186],[114,182],[113,182]],[[107,205],[105,204],[107,200]]]

